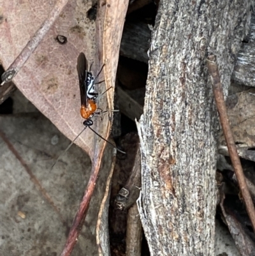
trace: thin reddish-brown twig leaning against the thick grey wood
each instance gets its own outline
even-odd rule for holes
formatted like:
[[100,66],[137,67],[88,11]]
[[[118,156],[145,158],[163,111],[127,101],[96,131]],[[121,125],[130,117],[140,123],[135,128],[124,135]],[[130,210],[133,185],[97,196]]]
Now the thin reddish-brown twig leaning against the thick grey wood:
[[231,132],[230,123],[228,122],[228,114],[226,110],[226,105],[224,102],[224,96],[222,92],[221,80],[219,77],[219,70],[216,63],[216,57],[210,55],[207,58],[207,68],[212,81],[212,89],[214,91],[214,98],[217,105],[217,110],[219,112],[219,119],[221,121],[222,130],[226,139],[226,144],[228,146],[228,151],[230,153],[230,158],[232,165],[237,176],[237,181],[244,198],[247,213],[251,219],[253,230],[255,231],[255,209],[251,200],[251,195],[247,188],[247,184],[244,177],[244,172],[242,170],[242,165],[240,158],[237,153],[237,147],[235,146],[235,141],[233,139],[233,134]]

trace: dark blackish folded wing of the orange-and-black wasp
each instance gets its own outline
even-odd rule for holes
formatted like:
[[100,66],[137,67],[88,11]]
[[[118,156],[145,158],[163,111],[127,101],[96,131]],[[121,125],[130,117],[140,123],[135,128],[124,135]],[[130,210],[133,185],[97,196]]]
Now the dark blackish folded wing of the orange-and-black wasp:
[[81,52],[77,59],[77,72],[80,86],[80,101],[85,107],[87,107],[87,68],[87,59],[85,54]]

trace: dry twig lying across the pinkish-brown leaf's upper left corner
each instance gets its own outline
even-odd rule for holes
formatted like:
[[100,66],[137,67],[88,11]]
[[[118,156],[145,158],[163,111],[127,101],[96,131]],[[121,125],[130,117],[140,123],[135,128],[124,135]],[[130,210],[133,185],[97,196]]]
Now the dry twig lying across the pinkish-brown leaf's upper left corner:
[[62,9],[67,3],[68,0],[58,0],[55,3],[55,6],[52,9],[52,11],[50,11],[48,18],[43,22],[43,24],[41,24],[41,27],[38,29],[38,31],[36,31],[33,38],[31,38],[31,40],[28,41],[27,45],[25,45],[22,52],[20,52],[15,61],[11,63],[6,72],[4,72],[1,76],[1,79],[3,81],[1,86],[3,86],[3,84],[5,84],[6,82],[10,82],[10,80],[13,79],[15,75],[17,75],[20,68],[24,66],[27,59],[29,59],[31,54],[38,47],[41,40],[43,40],[45,34],[47,34],[47,32],[50,30],[50,27],[54,24],[57,17],[59,17],[59,14],[61,13]]

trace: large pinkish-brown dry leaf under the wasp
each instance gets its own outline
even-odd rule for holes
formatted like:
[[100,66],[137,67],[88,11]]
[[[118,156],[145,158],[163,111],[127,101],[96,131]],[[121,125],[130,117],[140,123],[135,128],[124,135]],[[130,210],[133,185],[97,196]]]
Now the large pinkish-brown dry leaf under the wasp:
[[[102,29],[99,31],[101,35],[96,38],[96,22],[87,18],[87,11],[92,6],[91,1],[69,1],[38,49],[13,79],[18,89],[71,140],[84,128],[82,124],[84,120],[80,117],[79,111],[80,94],[76,70],[78,54],[84,52],[90,63],[94,61],[92,66],[94,73],[98,72],[99,66],[105,63],[107,84],[113,87],[115,84],[120,38],[126,11],[117,10],[116,8],[120,6],[115,6],[117,3],[113,2],[100,3],[100,8],[103,10],[102,16],[99,17]],[[123,3],[120,5],[126,8]],[[1,0],[1,6],[0,15],[3,19],[0,25],[0,58],[6,69],[47,18],[54,2],[25,1],[17,4],[16,1]],[[108,19],[104,24],[105,13]],[[116,13],[119,15],[111,17]],[[103,29],[104,26],[106,29]],[[102,40],[103,31],[106,33],[105,49],[96,41]],[[55,38],[58,34],[66,36],[68,42],[64,45],[57,43]],[[103,59],[99,56],[102,50],[97,50],[97,44],[103,49]],[[100,64],[99,59],[101,59]],[[105,89],[105,84],[98,86],[99,92]],[[107,97],[103,96],[99,100],[98,107],[103,110],[112,109],[113,93],[114,90],[108,91],[110,105],[106,102]],[[107,137],[110,131],[108,114],[103,116],[103,122],[96,120],[95,123],[100,123],[97,130],[103,137]],[[96,127],[96,124],[93,127]],[[94,133],[87,129],[75,142],[89,154],[91,159],[94,159],[94,137]]]

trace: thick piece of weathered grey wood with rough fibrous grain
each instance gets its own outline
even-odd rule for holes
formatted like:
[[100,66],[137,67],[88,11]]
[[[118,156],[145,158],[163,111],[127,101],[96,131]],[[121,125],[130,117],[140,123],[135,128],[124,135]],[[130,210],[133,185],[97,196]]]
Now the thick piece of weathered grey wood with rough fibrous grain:
[[214,255],[219,123],[205,59],[217,56],[226,93],[250,7],[230,0],[159,4],[138,124],[138,206],[151,255]]

